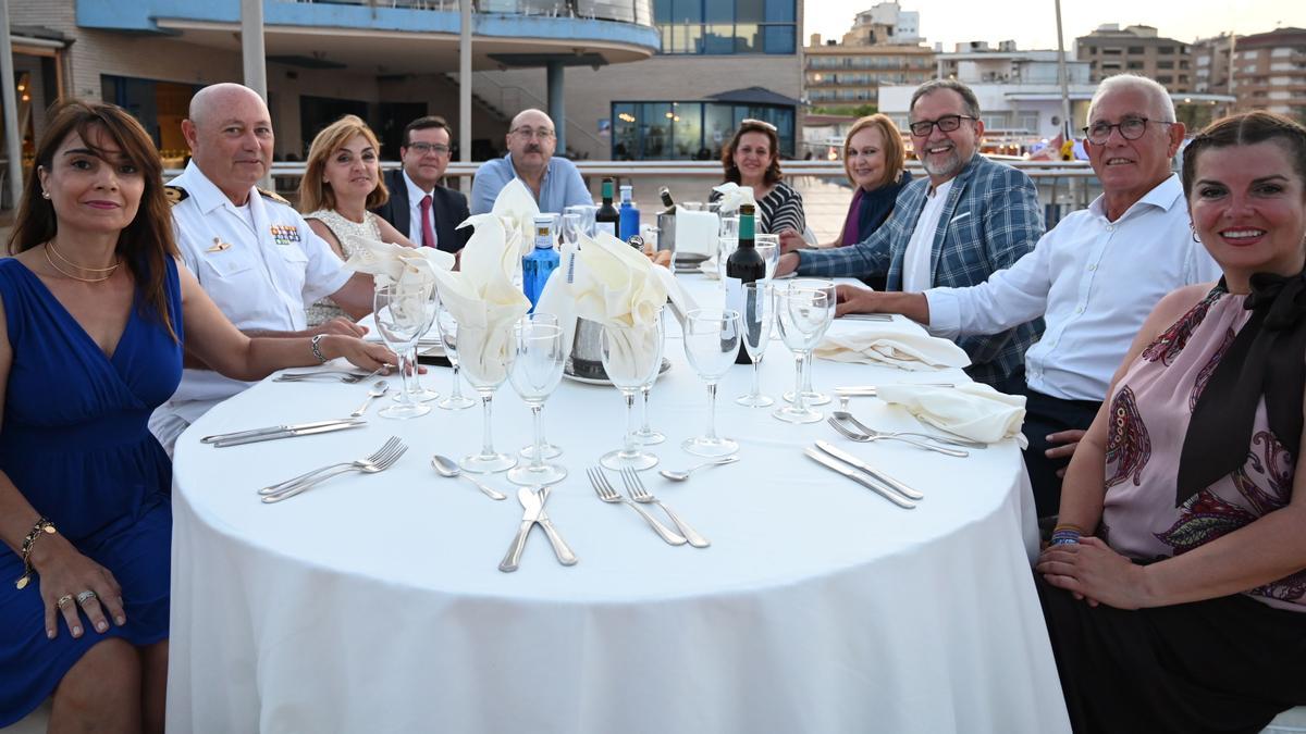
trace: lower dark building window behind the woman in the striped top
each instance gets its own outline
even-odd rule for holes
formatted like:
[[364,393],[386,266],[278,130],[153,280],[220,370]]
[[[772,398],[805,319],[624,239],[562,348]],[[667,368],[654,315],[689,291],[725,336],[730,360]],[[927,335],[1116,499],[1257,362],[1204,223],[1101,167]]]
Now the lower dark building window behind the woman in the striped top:
[[614,161],[716,161],[741,120],[776,125],[780,154],[794,154],[794,108],[729,102],[614,102]]

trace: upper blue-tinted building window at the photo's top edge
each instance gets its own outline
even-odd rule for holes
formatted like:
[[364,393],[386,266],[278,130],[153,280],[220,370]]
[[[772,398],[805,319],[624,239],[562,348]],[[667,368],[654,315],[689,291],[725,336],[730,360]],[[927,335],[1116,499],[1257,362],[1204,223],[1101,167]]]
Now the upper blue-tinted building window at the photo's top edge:
[[662,54],[797,54],[795,0],[654,0]]

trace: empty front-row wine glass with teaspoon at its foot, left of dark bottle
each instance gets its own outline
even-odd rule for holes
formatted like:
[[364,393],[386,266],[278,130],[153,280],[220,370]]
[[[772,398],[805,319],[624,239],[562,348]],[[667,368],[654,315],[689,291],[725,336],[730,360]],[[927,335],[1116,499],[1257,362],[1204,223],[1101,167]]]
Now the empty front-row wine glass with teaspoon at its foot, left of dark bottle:
[[684,355],[708,384],[708,432],[680,444],[697,456],[730,456],[739,444],[717,436],[717,381],[739,354],[739,312],[695,308],[684,316]]

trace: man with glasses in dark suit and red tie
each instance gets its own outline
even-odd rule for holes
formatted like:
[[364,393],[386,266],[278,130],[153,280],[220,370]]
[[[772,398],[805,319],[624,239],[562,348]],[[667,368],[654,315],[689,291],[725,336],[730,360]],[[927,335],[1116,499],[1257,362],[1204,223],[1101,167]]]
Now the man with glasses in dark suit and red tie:
[[409,123],[400,146],[404,167],[385,172],[390,197],[375,212],[415,244],[458,252],[471,236],[471,227],[454,229],[470,215],[468,197],[440,185],[449,167],[449,138],[444,118],[432,115]]

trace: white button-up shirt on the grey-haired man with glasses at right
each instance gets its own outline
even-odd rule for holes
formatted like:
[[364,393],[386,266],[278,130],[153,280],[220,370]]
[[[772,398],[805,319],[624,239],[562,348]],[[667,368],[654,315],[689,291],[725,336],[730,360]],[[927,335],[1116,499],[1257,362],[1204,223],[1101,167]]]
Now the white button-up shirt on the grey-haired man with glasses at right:
[[1101,401],[1143,320],[1161,298],[1216,281],[1220,268],[1192,239],[1177,175],[1119,219],[1102,197],[1074,212],[1033,252],[978,286],[931,289],[930,333],[991,334],[1043,316],[1025,353],[1029,388],[1063,400]]

